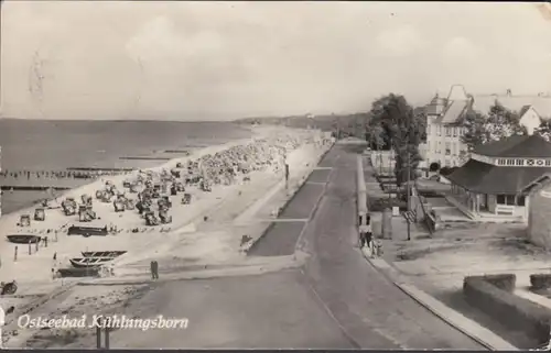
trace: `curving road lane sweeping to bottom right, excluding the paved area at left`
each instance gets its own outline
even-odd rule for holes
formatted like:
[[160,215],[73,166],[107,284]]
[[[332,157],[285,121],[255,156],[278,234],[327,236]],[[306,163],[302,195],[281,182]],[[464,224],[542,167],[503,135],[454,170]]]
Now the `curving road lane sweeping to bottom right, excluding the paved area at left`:
[[355,151],[336,145],[327,157],[335,169],[305,230],[305,251],[312,257],[304,274],[344,332],[368,349],[484,350],[366,263],[355,247]]

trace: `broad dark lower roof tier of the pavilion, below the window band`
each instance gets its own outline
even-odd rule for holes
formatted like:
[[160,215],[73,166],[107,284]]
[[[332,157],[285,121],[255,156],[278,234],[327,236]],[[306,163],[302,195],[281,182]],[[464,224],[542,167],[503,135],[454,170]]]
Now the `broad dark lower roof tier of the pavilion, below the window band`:
[[500,167],[469,159],[446,178],[478,194],[516,195],[550,172],[544,167]]

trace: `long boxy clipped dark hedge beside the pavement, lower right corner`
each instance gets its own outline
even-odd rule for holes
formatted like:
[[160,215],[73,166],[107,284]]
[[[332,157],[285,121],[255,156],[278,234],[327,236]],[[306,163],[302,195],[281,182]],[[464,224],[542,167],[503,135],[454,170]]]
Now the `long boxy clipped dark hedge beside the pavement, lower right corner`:
[[532,346],[549,341],[551,311],[536,302],[517,297],[514,274],[472,276],[463,282],[466,301],[509,329],[523,332]]

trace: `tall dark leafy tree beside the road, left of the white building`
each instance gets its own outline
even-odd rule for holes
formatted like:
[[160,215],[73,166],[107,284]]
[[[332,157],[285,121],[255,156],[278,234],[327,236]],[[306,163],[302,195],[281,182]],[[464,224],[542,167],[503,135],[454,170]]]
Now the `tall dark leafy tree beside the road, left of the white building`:
[[[388,143],[395,151],[396,165],[395,175],[397,185],[401,186],[408,178],[415,178],[415,169],[422,159],[419,154],[424,131],[422,114],[415,114],[413,108],[403,96],[390,93],[377,99],[371,106],[371,119],[374,125],[380,125],[385,132]],[[409,165],[408,165],[409,161]]]

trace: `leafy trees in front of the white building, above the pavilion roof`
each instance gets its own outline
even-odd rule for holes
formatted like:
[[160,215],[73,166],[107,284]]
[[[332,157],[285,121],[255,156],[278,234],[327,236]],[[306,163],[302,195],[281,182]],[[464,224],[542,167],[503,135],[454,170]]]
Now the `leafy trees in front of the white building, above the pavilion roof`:
[[498,101],[490,107],[488,115],[469,111],[463,124],[467,128],[462,140],[472,152],[476,145],[499,141],[517,134],[526,134],[526,129],[520,125],[520,117]]

